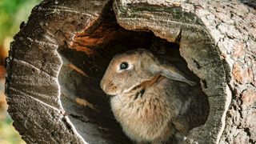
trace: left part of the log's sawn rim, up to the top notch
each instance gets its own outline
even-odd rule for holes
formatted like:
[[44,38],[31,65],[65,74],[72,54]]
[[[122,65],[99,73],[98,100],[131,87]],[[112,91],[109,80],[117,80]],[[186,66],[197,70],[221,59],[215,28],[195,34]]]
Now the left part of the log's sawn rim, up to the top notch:
[[86,142],[60,102],[57,77],[62,61],[57,48],[65,42],[64,36],[72,37],[96,21],[106,2],[43,1],[14,37],[7,59],[6,95],[14,126],[26,142]]

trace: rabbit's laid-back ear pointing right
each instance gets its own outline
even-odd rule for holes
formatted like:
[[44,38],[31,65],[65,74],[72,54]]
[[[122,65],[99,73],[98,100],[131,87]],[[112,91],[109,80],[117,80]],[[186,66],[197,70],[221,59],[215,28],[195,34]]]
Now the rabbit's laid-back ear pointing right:
[[[153,64],[154,65],[154,64]],[[195,86],[196,82],[190,81],[187,78],[185,78],[180,70],[175,68],[173,65],[166,65],[166,64],[158,64],[154,65],[153,67],[154,72],[157,72],[158,74],[161,74],[162,76],[180,81],[180,82],[186,82],[190,86]]]

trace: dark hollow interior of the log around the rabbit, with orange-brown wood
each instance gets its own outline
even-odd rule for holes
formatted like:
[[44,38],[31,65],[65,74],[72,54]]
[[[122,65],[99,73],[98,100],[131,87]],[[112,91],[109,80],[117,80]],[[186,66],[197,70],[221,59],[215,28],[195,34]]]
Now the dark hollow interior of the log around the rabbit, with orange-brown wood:
[[[195,117],[200,120],[196,120],[198,123],[192,124],[191,128],[206,122],[209,102],[199,85],[199,78],[187,68],[186,61],[180,56],[178,44],[158,38],[150,31],[123,29],[109,8],[102,12],[102,18],[94,26],[76,34],[66,46],[58,49],[62,57],[62,68],[58,74],[62,106],[86,142],[130,143],[115,121],[109,98],[99,83],[115,54],[138,48],[152,50],[198,83],[191,90],[198,95],[195,101],[202,106],[192,106],[190,112],[195,111]],[[197,110],[196,107],[204,110]]]

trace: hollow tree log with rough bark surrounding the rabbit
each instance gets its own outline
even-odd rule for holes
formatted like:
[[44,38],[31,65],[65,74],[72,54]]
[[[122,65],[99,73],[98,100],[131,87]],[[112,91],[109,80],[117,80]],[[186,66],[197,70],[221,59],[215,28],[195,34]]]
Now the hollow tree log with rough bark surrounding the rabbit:
[[22,23],[6,60],[14,127],[31,143],[130,143],[99,82],[114,54],[145,47],[177,58],[200,83],[194,95],[207,110],[198,117],[208,117],[186,142],[255,143],[254,6],[238,0],[43,1]]

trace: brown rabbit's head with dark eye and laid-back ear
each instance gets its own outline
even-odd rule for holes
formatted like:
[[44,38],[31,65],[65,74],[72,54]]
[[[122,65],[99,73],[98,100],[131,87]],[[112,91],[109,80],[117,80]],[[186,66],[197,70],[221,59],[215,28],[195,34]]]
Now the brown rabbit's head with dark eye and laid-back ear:
[[186,82],[190,86],[195,85],[195,82],[186,79],[174,66],[159,62],[154,54],[145,49],[130,50],[114,56],[100,85],[106,94],[118,95],[133,90],[142,82],[150,81],[159,74],[172,80]]

